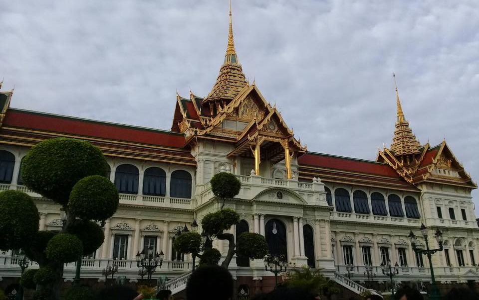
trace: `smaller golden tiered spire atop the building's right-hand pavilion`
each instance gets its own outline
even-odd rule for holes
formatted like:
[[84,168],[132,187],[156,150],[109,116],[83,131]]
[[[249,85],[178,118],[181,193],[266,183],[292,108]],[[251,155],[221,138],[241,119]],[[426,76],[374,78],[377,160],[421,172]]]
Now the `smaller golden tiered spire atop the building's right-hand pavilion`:
[[[398,86],[396,84],[396,74],[393,73],[394,84],[396,86],[396,105],[397,105],[397,121],[396,129],[394,130],[393,143],[391,144],[391,151],[394,152],[394,156],[408,156],[419,154],[421,144],[413,134],[413,130],[409,127],[409,122],[404,116],[403,109],[401,107],[401,101],[399,100]],[[412,162],[408,158],[408,161]]]

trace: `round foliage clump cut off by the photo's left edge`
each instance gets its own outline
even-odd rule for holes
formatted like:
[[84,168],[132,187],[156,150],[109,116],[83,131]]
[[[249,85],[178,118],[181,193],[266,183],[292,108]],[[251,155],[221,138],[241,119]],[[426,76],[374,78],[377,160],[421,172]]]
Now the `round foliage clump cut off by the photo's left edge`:
[[40,220],[31,197],[18,191],[3,191],[0,212],[0,250],[26,248],[38,231]]

